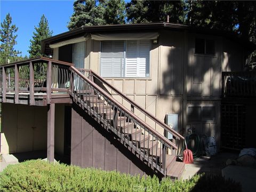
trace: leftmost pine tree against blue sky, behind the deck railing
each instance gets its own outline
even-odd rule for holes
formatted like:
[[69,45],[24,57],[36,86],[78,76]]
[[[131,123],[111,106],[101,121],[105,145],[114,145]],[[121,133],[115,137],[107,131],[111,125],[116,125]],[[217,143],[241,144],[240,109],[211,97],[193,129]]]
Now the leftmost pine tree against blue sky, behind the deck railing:
[[12,17],[8,13],[1,23],[1,45],[0,45],[0,64],[17,61],[19,59],[18,55],[21,54],[20,51],[14,49],[14,45],[17,44],[16,38],[18,27],[12,25]]

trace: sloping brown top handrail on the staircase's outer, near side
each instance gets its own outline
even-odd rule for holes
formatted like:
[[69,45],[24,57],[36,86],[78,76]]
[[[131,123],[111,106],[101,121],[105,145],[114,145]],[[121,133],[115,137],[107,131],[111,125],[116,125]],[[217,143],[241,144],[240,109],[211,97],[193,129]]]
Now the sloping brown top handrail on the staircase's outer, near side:
[[102,94],[105,95],[110,101],[114,102],[115,105],[122,110],[124,110],[127,114],[129,114],[132,118],[134,118],[136,121],[138,121],[141,125],[145,126],[151,133],[155,134],[159,139],[161,139],[163,142],[166,143],[166,146],[169,148],[178,149],[178,147],[171,142],[169,139],[165,138],[162,134],[158,133],[156,130],[153,129],[150,125],[148,125],[146,122],[143,122],[139,117],[137,117],[135,114],[133,114],[130,110],[126,109],[121,103],[119,103],[116,99],[111,97],[105,90],[103,90],[99,85],[95,84],[94,82],[90,81],[87,77],[85,77],[79,70],[77,70],[75,67],[70,67],[71,70],[75,71],[77,75],[79,75],[81,78],[83,78],[87,83],[89,83],[91,86],[95,87],[95,89],[98,89]]

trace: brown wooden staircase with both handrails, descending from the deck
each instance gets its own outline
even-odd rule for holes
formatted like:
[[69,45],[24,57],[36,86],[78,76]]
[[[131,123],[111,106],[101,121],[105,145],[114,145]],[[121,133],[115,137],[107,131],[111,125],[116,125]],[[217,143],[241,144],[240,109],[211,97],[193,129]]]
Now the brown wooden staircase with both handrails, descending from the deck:
[[[181,178],[185,164],[176,161],[175,153],[168,154],[169,151],[178,149],[177,146],[133,113],[134,107],[138,108],[134,101],[119,92],[124,99],[131,102],[131,110],[129,110],[106,91],[106,86],[108,86],[118,92],[104,79],[93,74],[92,71],[85,70],[81,73],[82,69],[77,70],[74,67],[70,67],[70,70],[73,83],[69,93],[77,105],[100,123],[104,129],[116,134],[120,142],[138,157],[138,161],[147,164],[155,173],[172,179]],[[100,83],[96,84],[95,78],[98,78],[97,82],[100,80]],[[147,111],[144,109],[142,111],[150,117]],[[158,119],[155,122],[158,125],[163,124]],[[183,139],[179,133],[164,125],[162,127],[171,132],[174,138]]]

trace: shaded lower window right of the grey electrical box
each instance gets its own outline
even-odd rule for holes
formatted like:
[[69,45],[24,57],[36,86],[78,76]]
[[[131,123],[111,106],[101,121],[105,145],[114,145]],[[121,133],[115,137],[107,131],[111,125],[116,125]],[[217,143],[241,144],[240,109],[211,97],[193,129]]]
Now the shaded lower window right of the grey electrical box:
[[188,106],[189,122],[215,121],[214,106]]

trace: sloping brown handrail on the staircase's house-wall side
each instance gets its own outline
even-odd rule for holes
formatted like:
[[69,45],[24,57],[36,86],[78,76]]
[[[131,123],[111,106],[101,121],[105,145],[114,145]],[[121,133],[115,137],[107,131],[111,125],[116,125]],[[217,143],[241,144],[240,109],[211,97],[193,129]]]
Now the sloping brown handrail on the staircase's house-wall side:
[[110,83],[108,83],[107,81],[105,81],[105,79],[103,79],[101,76],[99,76],[97,73],[95,73],[93,70],[91,69],[85,69],[85,71],[91,71],[91,73],[97,77],[98,79],[100,79],[100,81],[102,81],[104,84],[108,85],[112,90],[114,90],[116,93],[118,93],[119,95],[121,95],[122,98],[124,98],[126,101],[128,101],[132,106],[135,106],[137,109],[139,109],[143,114],[146,114],[148,117],[150,117],[153,121],[157,122],[159,125],[161,125],[163,127],[164,130],[169,131],[173,134],[173,136],[177,139],[182,139],[184,140],[184,137],[179,134],[178,132],[174,131],[173,129],[171,129],[171,127],[169,127],[168,125],[166,125],[165,123],[163,123],[161,120],[159,120],[158,118],[156,118],[154,115],[152,115],[151,113],[149,113],[148,111],[146,111],[145,109],[143,109],[140,105],[138,105],[136,102],[134,102],[133,100],[131,100],[129,97],[127,97],[124,93],[122,93],[121,91],[119,91],[118,89],[116,89],[116,87],[114,87],[113,85],[111,85]]

